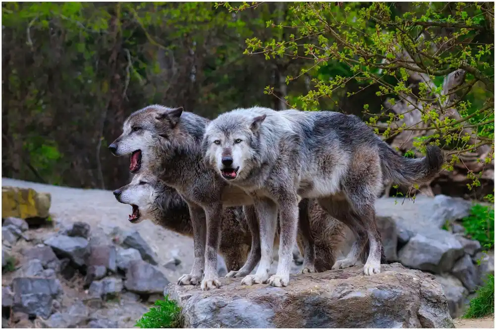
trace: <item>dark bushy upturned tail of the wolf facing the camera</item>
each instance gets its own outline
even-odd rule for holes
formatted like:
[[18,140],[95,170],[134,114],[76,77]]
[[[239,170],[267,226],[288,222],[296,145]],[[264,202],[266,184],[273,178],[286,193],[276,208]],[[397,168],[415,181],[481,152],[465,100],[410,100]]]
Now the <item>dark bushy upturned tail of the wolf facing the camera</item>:
[[401,184],[424,183],[433,179],[444,164],[444,156],[437,146],[428,146],[426,157],[411,159],[396,154],[380,141],[382,173],[386,181]]

